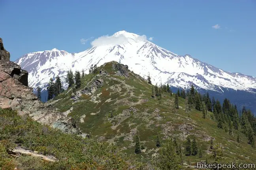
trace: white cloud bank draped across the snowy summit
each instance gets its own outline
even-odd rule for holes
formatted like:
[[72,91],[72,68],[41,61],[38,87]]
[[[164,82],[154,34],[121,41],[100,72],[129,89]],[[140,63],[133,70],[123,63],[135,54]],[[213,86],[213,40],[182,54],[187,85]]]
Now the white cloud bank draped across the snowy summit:
[[94,41],[91,42],[92,46],[102,46],[102,45],[118,45],[118,44],[127,44],[128,41],[144,41],[147,39],[146,35],[139,35],[137,37],[126,37],[123,34],[116,36],[104,35],[102,37],[98,37]]

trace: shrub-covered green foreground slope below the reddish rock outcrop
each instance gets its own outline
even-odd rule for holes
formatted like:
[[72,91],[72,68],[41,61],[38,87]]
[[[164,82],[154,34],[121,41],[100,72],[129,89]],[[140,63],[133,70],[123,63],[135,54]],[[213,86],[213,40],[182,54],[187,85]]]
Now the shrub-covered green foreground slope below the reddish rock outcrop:
[[[13,158],[8,150],[16,146],[53,155],[58,161],[51,163],[30,156]],[[141,165],[105,142],[64,134],[28,116],[0,109],[0,170],[139,169]]]

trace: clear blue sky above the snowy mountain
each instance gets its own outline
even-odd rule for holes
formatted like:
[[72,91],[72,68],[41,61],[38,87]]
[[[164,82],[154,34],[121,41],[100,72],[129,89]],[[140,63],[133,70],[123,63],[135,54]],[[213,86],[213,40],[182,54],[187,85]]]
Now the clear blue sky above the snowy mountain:
[[126,30],[175,54],[256,76],[255,0],[0,0],[0,11],[0,37],[13,61],[53,48],[81,52],[97,37]]

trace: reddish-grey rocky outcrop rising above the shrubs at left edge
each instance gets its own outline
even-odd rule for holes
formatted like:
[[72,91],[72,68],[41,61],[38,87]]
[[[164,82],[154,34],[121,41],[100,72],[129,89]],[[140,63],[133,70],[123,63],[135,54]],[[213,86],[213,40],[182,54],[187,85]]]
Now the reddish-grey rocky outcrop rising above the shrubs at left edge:
[[58,128],[66,133],[83,135],[75,121],[65,113],[44,105],[28,87],[28,72],[9,61],[9,52],[0,39],[0,108],[12,109],[19,115],[28,114],[34,120]]

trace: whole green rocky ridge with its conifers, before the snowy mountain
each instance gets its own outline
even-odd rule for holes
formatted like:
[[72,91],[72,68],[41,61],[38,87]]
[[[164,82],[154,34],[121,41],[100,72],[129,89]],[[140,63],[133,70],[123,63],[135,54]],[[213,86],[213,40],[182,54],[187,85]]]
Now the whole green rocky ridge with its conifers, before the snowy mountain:
[[69,88],[47,105],[68,113],[95,140],[162,169],[163,162],[192,168],[200,160],[256,160],[251,152],[256,118],[245,107],[239,114],[228,99],[221,103],[194,85],[175,94],[169,84],[152,85],[150,76],[144,79],[115,61],[90,67],[78,78],[73,76]]

